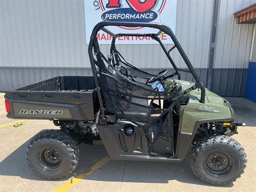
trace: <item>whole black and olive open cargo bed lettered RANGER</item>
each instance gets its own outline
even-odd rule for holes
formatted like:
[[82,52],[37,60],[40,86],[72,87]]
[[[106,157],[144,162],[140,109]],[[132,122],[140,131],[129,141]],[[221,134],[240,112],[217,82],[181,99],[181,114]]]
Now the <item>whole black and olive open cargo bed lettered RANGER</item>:
[[8,118],[94,120],[98,99],[91,76],[58,76],[5,93]]

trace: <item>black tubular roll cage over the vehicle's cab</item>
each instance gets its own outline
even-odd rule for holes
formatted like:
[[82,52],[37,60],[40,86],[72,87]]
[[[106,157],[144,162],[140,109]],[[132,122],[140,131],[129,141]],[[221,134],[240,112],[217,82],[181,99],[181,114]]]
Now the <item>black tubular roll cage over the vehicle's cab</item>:
[[[106,29],[106,26],[123,26],[123,27],[149,27],[149,28],[156,28],[159,29],[157,34],[114,34],[112,33],[110,30]],[[182,49],[180,43],[178,42],[178,39],[175,37],[173,31],[171,30],[170,27],[168,27],[167,25],[163,24],[163,23],[145,23],[145,22],[111,22],[111,21],[102,21],[99,22],[97,25],[95,25],[95,27],[92,30],[92,34],[91,34],[91,38],[90,38],[90,43],[89,43],[89,47],[88,47],[88,53],[89,53],[89,59],[90,59],[90,63],[91,63],[91,68],[92,68],[92,74],[94,77],[94,82],[95,82],[95,86],[97,89],[97,94],[98,94],[98,98],[99,98],[99,104],[100,104],[100,108],[103,108],[103,102],[102,102],[102,97],[101,97],[101,93],[100,93],[100,86],[99,86],[99,81],[98,81],[98,77],[97,77],[97,70],[95,67],[95,60],[93,57],[93,47],[95,46],[95,42],[97,41],[97,34],[98,31],[102,30],[105,31],[105,33],[113,36],[113,41],[111,43],[111,47],[110,47],[110,53],[113,53],[113,50],[115,49],[115,40],[118,36],[148,36],[151,37],[153,39],[155,39],[162,47],[162,49],[164,50],[167,58],[170,60],[174,70],[175,70],[175,75],[178,75],[178,79],[180,79],[180,73],[179,71],[183,71],[186,73],[191,73],[193,75],[193,77],[196,80],[196,84],[195,84],[195,88],[199,88],[201,89],[201,99],[200,102],[204,103],[205,101],[205,87],[203,85],[203,83],[200,81],[198,75],[196,74],[196,71],[194,69],[194,67],[192,66],[191,62],[189,61],[185,51]],[[164,32],[165,34],[169,35],[174,43],[174,46],[171,47],[171,49],[169,51],[166,50],[164,44],[162,43],[161,39],[159,39],[159,35]],[[180,69],[178,68],[174,61],[172,60],[171,56],[170,56],[170,52],[174,49],[177,48],[181,57],[183,58],[183,60],[185,61],[187,67],[189,70],[186,69]],[[95,47],[94,47],[95,49]],[[96,49],[99,49],[99,47],[96,47]],[[99,52],[99,50],[98,50]],[[97,53],[94,53],[97,54]]]

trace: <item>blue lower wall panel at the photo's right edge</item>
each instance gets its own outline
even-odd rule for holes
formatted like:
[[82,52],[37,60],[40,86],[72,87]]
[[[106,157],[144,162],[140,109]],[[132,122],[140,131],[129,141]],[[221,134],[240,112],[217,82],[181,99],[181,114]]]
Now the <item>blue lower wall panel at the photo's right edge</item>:
[[256,62],[249,62],[245,98],[256,102]]

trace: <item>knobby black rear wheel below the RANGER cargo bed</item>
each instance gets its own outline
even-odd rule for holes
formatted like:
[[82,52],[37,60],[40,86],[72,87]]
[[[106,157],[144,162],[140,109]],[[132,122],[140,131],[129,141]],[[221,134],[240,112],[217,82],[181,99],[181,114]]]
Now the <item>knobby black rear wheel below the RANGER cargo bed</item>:
[[30,141],[27,159],[41,177],[60,179],[75,170],[79,159],[76,142],[60,130],[44,130]]

